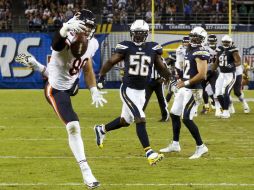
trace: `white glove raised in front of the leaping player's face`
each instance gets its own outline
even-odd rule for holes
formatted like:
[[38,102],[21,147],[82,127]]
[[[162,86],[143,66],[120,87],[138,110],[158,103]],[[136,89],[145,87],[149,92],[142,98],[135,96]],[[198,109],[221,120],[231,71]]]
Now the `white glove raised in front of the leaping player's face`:
[[76,33],[83,32],[86,27],[85,23],[79,20],[80,13],[76,13],[70,20],[63,23],[62,28],[60,29],[60,35],[65,38],[67,36],[67,32],[74,31]]

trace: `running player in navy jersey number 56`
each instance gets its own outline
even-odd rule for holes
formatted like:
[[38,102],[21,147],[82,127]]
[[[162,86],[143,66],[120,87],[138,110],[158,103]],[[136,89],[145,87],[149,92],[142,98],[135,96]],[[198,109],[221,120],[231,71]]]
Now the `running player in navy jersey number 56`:
[[133,22],[130,28],[131,41],[117,44],[115,54],[102,66],[98,80],[99,87],[103,87],[106,73],[119,61],[124,60],[125,70],[120,87],[123,106],[120,117],[106,125],[96,125],[94,130],[97,145],[102,147],[107,132],[127,127],[135,122],[137,136],[146,152],[148,162],[154,165],[163,158],[163,154],[154,152],[149,143],[143,111],[145,88],[150,80],[153,65],[165,79],[169,79],[170,72],[161,59],[162,47],[156,42],[146,42],[148,33],[149,26],[144,20]]

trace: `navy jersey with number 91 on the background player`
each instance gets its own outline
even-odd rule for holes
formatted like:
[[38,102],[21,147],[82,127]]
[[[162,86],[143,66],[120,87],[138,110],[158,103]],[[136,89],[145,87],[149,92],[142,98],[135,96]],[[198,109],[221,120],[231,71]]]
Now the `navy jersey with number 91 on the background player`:
[[238,48],[235,46],[231,46],[229,48],[224,48],[223,46],[219,46],[217,49],[217,55],[219,59],[219,68],[222,73],[231,73],[235,72],[235,62],[233,53],[238,52]]

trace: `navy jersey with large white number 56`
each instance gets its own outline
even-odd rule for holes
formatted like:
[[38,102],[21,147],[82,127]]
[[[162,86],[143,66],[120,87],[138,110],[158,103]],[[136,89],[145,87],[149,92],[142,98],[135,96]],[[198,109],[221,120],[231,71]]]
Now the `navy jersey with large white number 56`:
[[123,84],[133,89],[145,89],[151,77],[155,55],[162,54],[162,47],[156,42],[136,46],[131,41],[123,41],[116,45],[115,52],[124,55]]

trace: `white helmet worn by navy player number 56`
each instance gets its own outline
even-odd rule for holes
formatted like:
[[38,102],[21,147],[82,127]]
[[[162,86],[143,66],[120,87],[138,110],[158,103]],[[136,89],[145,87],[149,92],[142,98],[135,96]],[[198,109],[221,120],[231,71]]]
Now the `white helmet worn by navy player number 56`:
[[149,33],[149,25],[144,20],[136,20],[132,23],[130,28],[131,40],[136,45],[142,45]]

